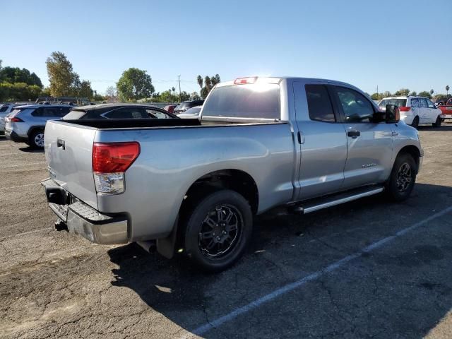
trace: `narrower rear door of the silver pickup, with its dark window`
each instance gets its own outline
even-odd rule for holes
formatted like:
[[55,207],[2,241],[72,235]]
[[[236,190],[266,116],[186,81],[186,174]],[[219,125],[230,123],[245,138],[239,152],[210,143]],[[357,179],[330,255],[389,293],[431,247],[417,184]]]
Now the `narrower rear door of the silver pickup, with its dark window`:
[[293,83],[301,152],[299,194],[305,200],[339,191],[344,180],[347,138],[326,85]]

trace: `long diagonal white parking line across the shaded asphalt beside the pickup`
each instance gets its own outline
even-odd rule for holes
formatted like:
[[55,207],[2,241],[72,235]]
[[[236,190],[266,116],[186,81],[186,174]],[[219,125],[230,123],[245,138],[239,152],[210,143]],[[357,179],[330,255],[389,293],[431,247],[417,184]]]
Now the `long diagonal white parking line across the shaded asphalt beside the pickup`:
[[283,287],[280,287],[280,288],[278,288],[278,290],[274,290],[273,292],[269,293],[268,295],[264,295],[263,297],[256,299],[253,302],[250,302],[249,304],[246,304],[243,307],[234,309],[234,311],[231,311],[230,313],[226,314],[225,316],[220,316],[220,318],[217,318],[213,321],[208,321],[208,323],[205,323],[202,326],[195,328],[188,335],[182,336],[182,338],[193,338],[196,335],[203,335],[204,333],[212,330],[213,328],[217,328],[218,326],[221,326],[223,323],[232,321],[233,319],[237,318],[237,316],[239,316],[241,314],[245,314],[253,309],[257,309],[258,307],[261,307],[263,304],[266,304],[266,302],[270,302],[271,300],[273,300],[277,297],[280,297],[281,295],[284,295],[287,292],[291,292],[291,291],[297,289],[298,287],[301,287],[301,286],[305,285],[306,283],[309,283],[310,281],[320,278],[322,275],[324,275],[326,273],[330,273],[333,270],[340,268],[340,266],[345,265],[345,263],[349,263],[353,259],[361,256],[363,252],[370,252],[370,251],[374,251],[374,249],[379,249],[381,246],[388,244],[388,242],[392,242],[394,239],[397,239],[398,237],[401,237],[401,236],[407,234],[408,232],[411,232],[412,230],[415,230],[418,227],[425,225],[427,222],[432,221],[436,218],[439,218],[442,215],[445,215],[446,213],[449,213],[449,212],[452,212],[452,206],[449,206],[448,208],[441,210],[440,212],[435,213],[434,215],[431,215],[428,218],[421,220],[420,222],[416,222],[415,224],[411,225],[410,227],[404,228],[403,230],[396,232],[396,234],[383,238],[383,239],[379,240],[378,242],[374,242],[374,244],[364,247],[364,249],[362,249],[361,251],[357,251],[354,254],[350,254],[350,256],[345,256],[344,258],[342,258],[338,261],[335,261],[335,263],[332,263],[331,265],[327,266],[326,268],[323,268],[323,270],[318,270],[315,273],[311,273],[310,275],[307,275],[307,276],[295,281],[295,283],[290,283]]

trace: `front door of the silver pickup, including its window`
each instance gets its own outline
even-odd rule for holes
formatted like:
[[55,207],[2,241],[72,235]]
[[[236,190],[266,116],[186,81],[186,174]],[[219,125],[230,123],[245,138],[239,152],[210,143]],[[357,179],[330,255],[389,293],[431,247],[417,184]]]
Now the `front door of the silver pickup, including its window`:
[[374,105],[352,88],[331,86],[347,138],[343,189],[384,182],[391,169],[391,124],[376,121]]

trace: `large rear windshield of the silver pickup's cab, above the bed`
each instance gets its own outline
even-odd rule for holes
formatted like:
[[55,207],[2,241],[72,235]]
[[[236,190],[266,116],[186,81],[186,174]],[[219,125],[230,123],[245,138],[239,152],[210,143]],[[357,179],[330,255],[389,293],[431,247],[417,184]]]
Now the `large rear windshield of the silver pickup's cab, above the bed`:
[[257,83],[215,88],[204,103],[203,116],[280,119],[280,85]]

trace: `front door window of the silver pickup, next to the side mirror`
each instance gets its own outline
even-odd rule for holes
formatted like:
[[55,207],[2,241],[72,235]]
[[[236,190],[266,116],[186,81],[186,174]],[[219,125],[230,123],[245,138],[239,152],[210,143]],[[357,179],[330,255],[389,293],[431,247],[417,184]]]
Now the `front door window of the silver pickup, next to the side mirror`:
[[374,115],[374,107],[364,95],[350,88],[335,86],[345,122],[370,122]]

